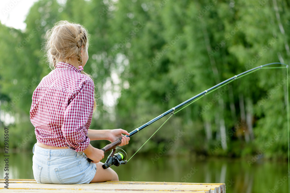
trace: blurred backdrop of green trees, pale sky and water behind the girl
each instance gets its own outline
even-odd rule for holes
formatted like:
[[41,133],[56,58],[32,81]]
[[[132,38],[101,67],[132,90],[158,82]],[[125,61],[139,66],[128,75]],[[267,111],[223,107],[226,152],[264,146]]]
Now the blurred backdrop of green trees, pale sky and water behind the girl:
[[[0,9],[0,126],[9,128],[10,178],[33,179],[29,110],[50,72],[42,47],[57,21],[80,23],[90,34],[84,71],[99,97],[92,129],[130,132],[236,74],[289,64],[287,0],[6,0]],[[288,192],[287,101],[286,69],[256,71],[175,114],[113,169],[124,181]],[[131,137],[128,158],[165,120]],[[3,137],[0,147],[2,157]],[[3,161],[0,168],[3,178]]]

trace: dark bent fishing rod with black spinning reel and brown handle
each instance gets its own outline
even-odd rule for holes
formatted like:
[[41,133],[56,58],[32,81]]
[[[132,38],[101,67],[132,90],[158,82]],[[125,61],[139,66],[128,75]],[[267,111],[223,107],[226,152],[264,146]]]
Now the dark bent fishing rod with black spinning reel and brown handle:
[[[215,86],[213,86],[213,87],[211,87],[211,88],[209,88],[209,89],[207,89],[207,90],[205,90],[205,91],[199,93],[198,95],[195,95],[194,97],[192,97],[192,98],[190,98],[190,99],[188,99],[188,100],[186,100],[186,101],[180,103],[179,105],[173,107],[172,109],[169,109],[169,110],[166,111],[165,113],[162,113],[162,114],[159,115],[158,117],[155,117],[155,118],[152,119],[151,121],[149,121],[149,122],[145,123],[144,125],[142,125],[142,126],[136,128],[136,129],[134,129],[133,131],[131,131],[131,132],[129,133],[130,135],[126,135],[126,137],[129,137],[129,136],[131,137],[132,135],[138,133],[140,130],[144,129],[145,127],[147,127],[148,125],[154,123],[155,121],[161,119],[162,117],[168,115],[169,113],[170,113],[171,115],[174,115],[174,111],[175,111],[176,109],[180,108],[181,106],[183,106],[183,105],[185,105],[185,104],[187,104],[187,103],[189,103],[189,102],[191,102],[191,101],[193,101],[193,100],[195,100],[195,99],[197,99],[197,98],[199,98],[199,97],[203,97],[203,96],[205,96],[206,93],[208,93],[209,91],[212,91],[212,90],[214,90],[214,89],[217,89],[218,87],[222,87],[222,86],[224,86],[225,84],[227,84],[227,83],[229,83],[229,82],[231,82],[231,81],[233,81],[233,80],[236,80],[237,78],[242,77],[243,75],[245,76],[245,75],[247,75],[247,74],[250,73],[250,72],[253,72],[253,71],[255,71],[255,70],[262,69],[262,68],[265,67],[265,66],[269,66],[269,65],[273,65],[273,64],[281,64],[281,65],[285,65],[286,68],[288,68],[288,65],[287,65],[287,64],[284,64],[284,63],[269,63],[269,64],[261,65],[261,66],[258,66],[258,67],[255,67],[255,68],[252,68],[252,69],[250,69],[250,70],[244,71],[244,72],[242,72],[242,73],[240,73],[240,74],[238,74],[238,75],[235,75],[235,76],[233,76],[233,77],[231,77],[231,78],[229,78],[229,79],[227,79],[227,80],[224,80],[223,82],[220,82],[219,84],[216,84]],[[127,161],[124,160],[124,154],[123,154],[122,152],[118,152],[117,154],[114,155],[115,150],[116,150],[116,147],[117,147],[119,144],[121,144],[121,140],[122,140],[122,137],[120,137],[120,138],[117,139],[116,141],[114,141],[114,142],[112,142],[112,143],[106,145],[104,148],[101,149],[101,150],[104,151],[104,153],[106,153],[106,152],[108,152],[108,151],[110,151],[110,150],[113,150],[112,153],[108,156],[107,161],[103,164],[103,168],[104,168],[104,169],[109,168],[109,167],[112,166],[112,165],[120,166],[120,165],[122,165],[122,164],[126,164],[126,163],[127,163]],[[89,159],[89,158],[88,158],[87,160],[88,160],[89,162],[92,161],[92,160]],[[123,161],[123,160],[124,160],[124,161]]]

